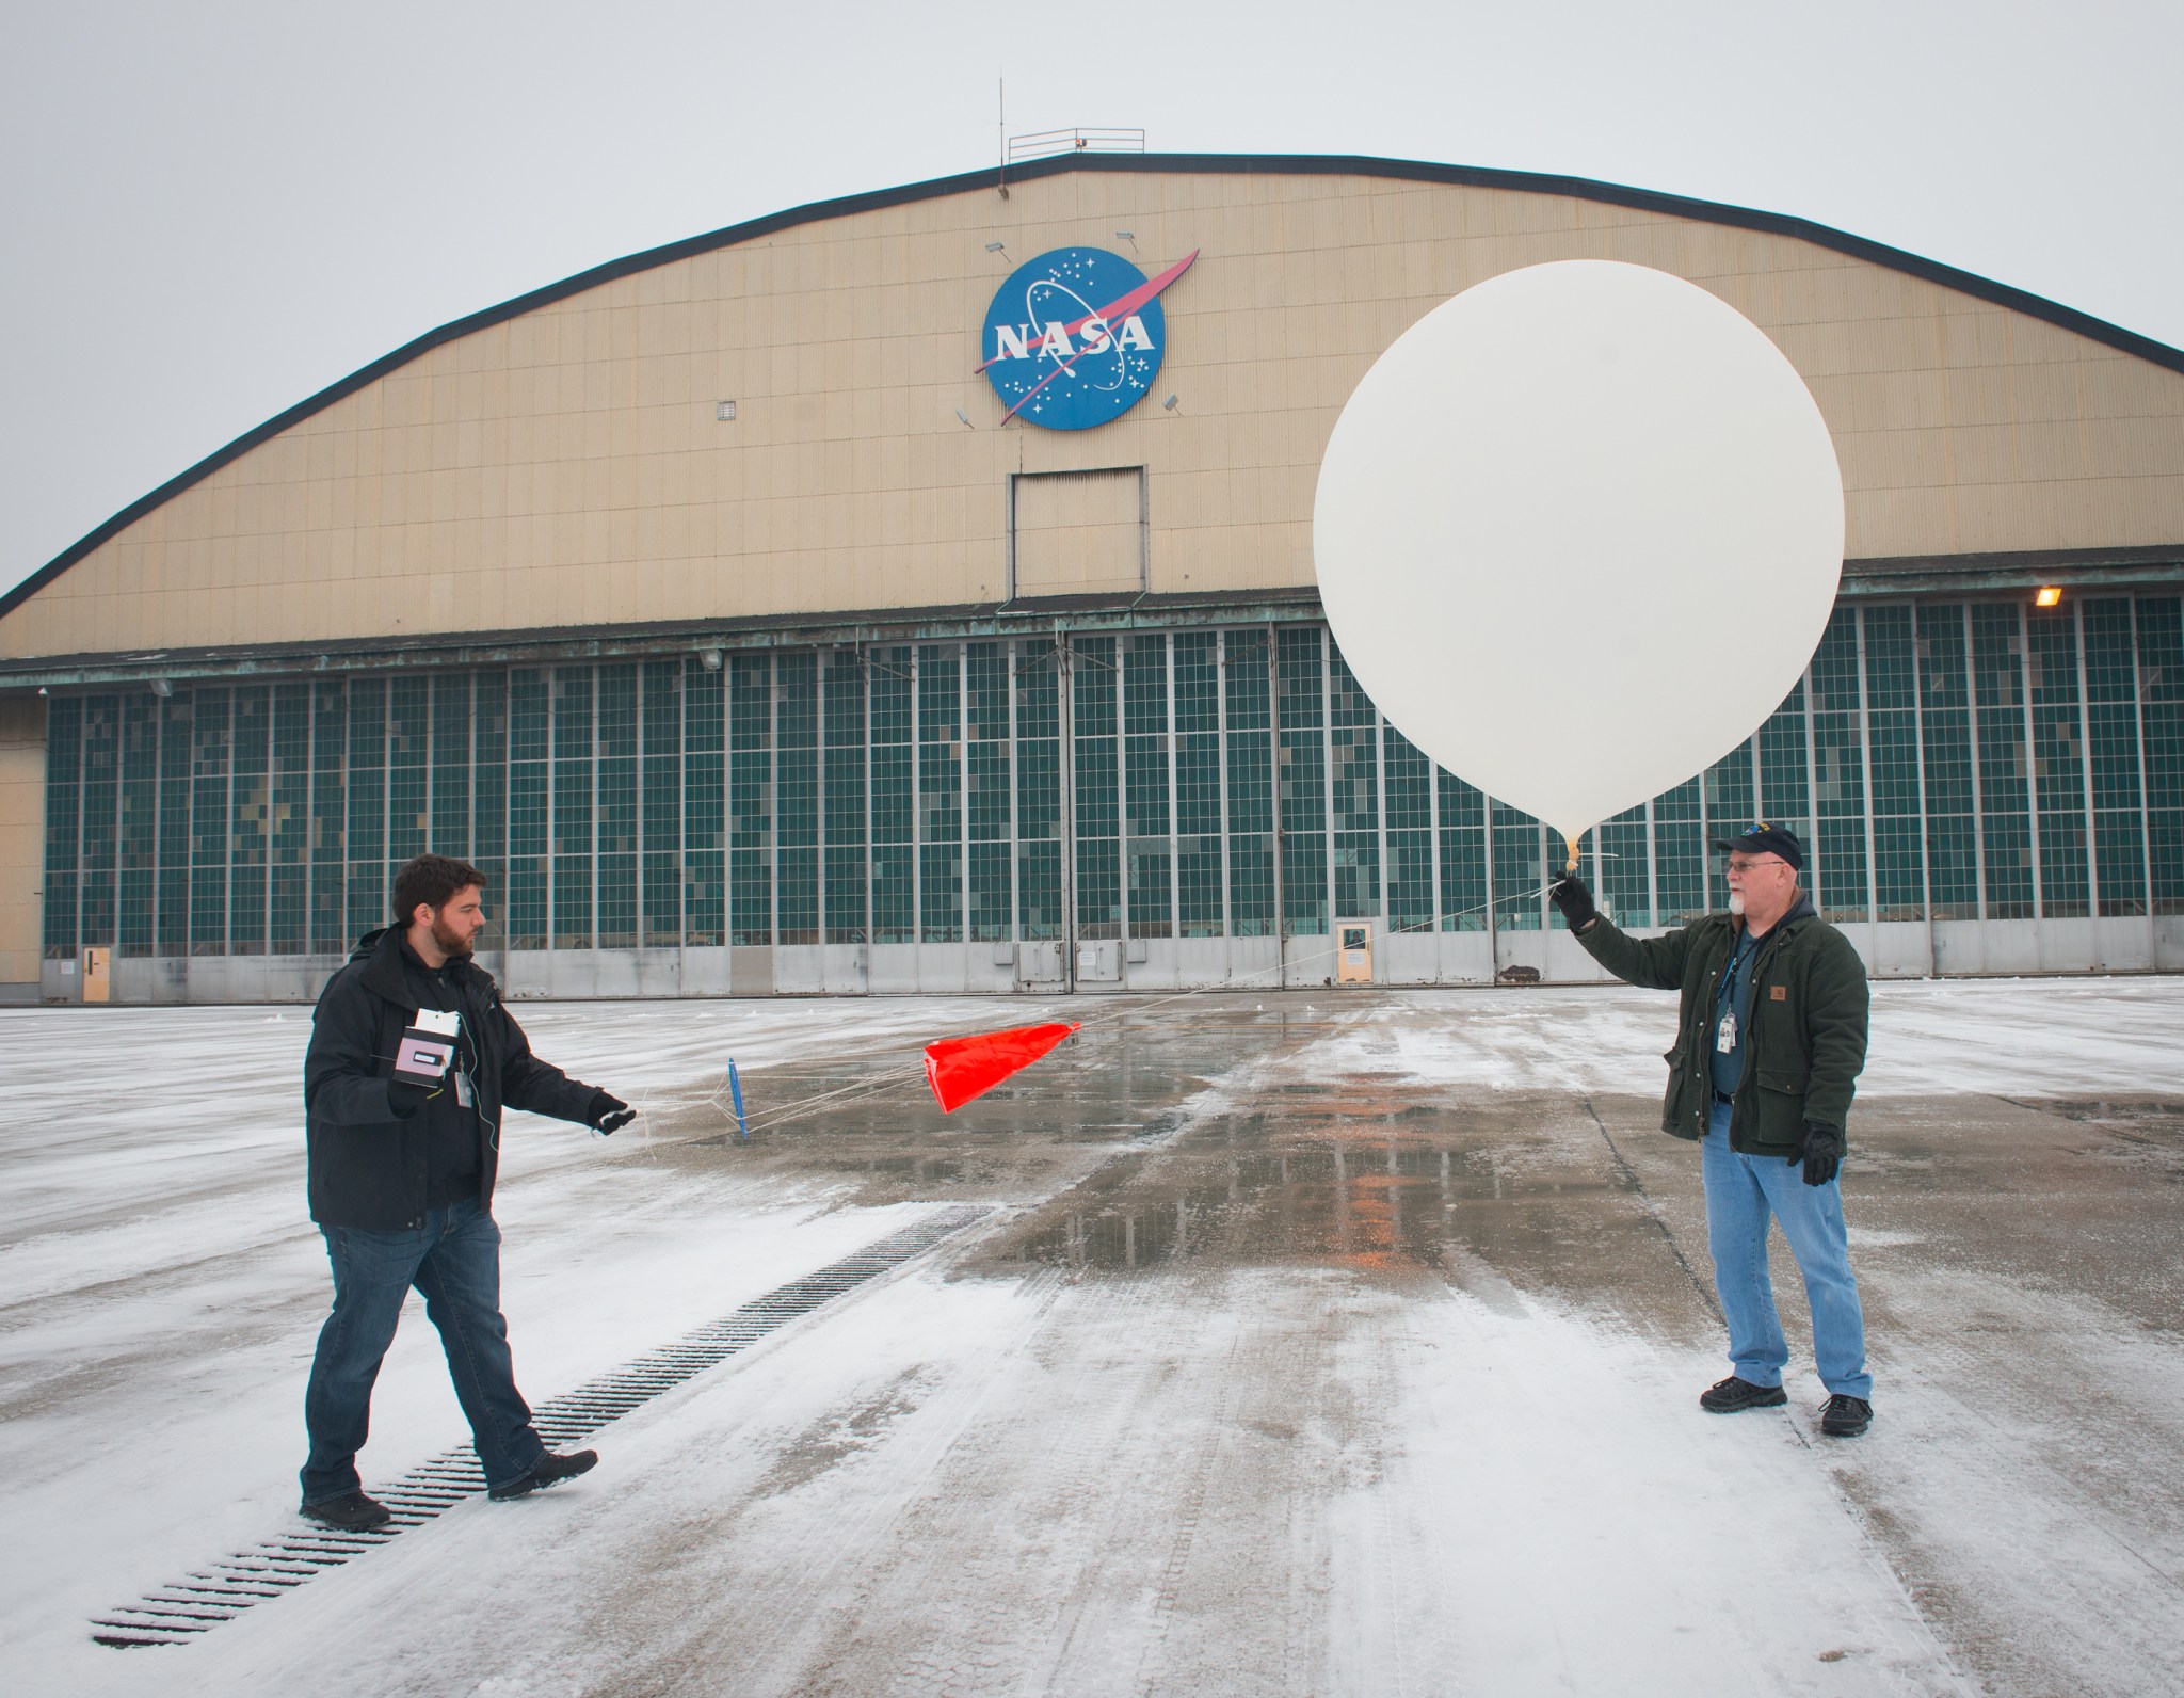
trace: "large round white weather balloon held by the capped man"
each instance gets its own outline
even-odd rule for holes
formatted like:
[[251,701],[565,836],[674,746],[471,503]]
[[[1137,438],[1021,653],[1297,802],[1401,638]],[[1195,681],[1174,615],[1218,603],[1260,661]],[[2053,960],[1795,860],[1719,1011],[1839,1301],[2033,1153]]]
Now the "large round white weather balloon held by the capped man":
[[1797,684],[1843,568],[1843,479],[1736,308],[1564,260],[1463,291],[1374,363],[1319,465],[1313,551],[1389,723],[1575,841]]

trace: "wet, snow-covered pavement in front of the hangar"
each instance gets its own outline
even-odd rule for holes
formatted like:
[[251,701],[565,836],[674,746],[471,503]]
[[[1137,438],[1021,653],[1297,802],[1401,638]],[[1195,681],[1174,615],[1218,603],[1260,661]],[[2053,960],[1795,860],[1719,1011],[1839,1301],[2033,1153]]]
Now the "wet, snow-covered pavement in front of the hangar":
[[[1802,1348],[1791,1412],[1693,1403],[1725,1368],[1651,1101],[1671,999],[1081,999],[935,1112],[919,1042],[1046,1012],[522,1010],[646,1108],[511,1117],[533,1399],[935,1202],[996,1213],[614,1423],[583,1482],[131,1652],[90,1617],[295,1525],[308,1012],[0,1014],[9,1689],[2184,1689],[2184,983],[1876,988],[1848,1445]],[[367,1486],[461,1436],[411,1313]]]

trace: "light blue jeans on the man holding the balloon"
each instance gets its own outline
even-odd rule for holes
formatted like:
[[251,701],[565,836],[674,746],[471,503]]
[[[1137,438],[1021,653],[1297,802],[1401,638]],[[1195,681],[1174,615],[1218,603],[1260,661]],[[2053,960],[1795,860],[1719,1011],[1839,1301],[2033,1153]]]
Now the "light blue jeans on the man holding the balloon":
[[1850,1272],[1843,1233],[1843,1189],[1837,1180],[1806,1184],[1804,1167],[1782,1156],[1738,1156],[1730,1149],[1730,1106],[1714,1104],[1699,1145],[1706,1174],[1706,1248],[1714,1254],[1714,1292],[1730,1322],[1730,1364],[1738,1379],[1780,1385],[1789,1364],[1782,1318],[1767,1274],[1767,1222],[1804,1272],[1813,1305],[1813,1366],[1819,1383],[1843,1396],[1872,1399],[1865,1372],[1865,1311]]

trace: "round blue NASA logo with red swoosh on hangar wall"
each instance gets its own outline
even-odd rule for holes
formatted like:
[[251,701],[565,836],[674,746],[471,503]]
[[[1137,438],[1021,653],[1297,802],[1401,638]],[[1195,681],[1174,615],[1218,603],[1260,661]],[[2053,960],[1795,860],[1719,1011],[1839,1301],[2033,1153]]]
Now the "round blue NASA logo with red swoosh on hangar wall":
[[1147,278],[1120,253],[1057,247],[1020,264],[985,310],[978,369],[1007,402],[1048,431],[1090,431],[1151,389],[1168,347],[1160,293],[1199,253]]

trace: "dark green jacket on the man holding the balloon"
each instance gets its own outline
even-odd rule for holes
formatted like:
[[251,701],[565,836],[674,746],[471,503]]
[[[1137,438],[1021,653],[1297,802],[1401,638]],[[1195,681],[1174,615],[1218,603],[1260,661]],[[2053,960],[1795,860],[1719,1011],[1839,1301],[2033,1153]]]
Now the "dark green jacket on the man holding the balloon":
[[[1577,942],[1618,979],[1647,990],[1679,990],[1675,1049],[1660,1123],[1679,1139],[1706,1136],[1714,1106],[1714,986],[1743,931],[1730,913],[1708,913],[1664,938],[1631,938],[1601,916]],[[1865,1066],[1865,962],[1806,896],[1760,940],[1752,964],[1752,1031],[1745,1073],[1730,1108],[1730,1149],[1791,1156],[1804,1123],[1843,1132],[1850,1095]]]

